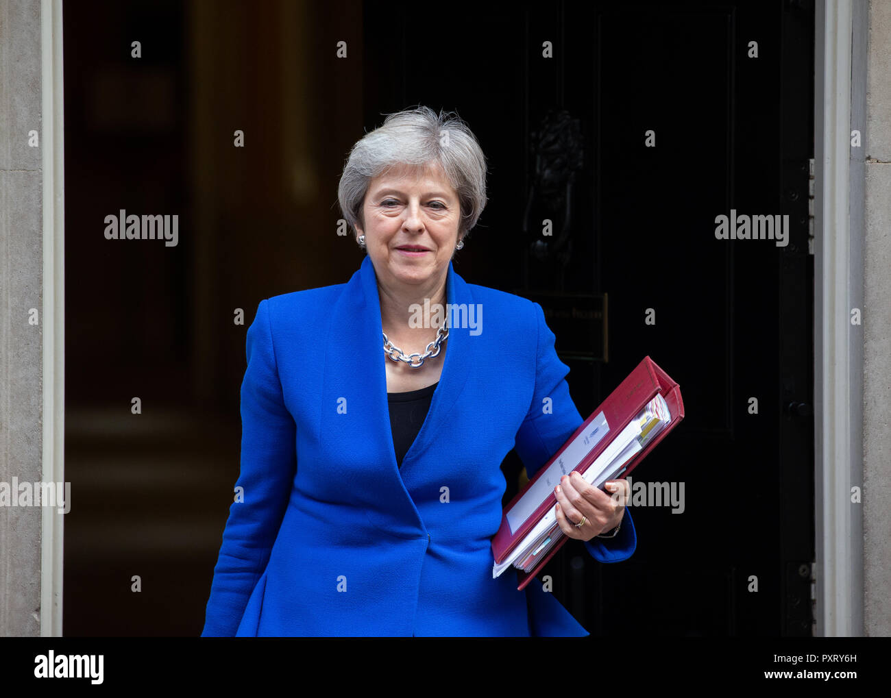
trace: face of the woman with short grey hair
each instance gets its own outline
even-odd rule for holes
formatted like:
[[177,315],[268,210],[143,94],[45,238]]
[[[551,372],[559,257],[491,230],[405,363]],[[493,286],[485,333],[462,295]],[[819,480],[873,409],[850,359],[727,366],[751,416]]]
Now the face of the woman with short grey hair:
[[445,279],[458,243],[458,194],[439,166],[394,168],[364,199],[365,248],[378,282],[394,291]]

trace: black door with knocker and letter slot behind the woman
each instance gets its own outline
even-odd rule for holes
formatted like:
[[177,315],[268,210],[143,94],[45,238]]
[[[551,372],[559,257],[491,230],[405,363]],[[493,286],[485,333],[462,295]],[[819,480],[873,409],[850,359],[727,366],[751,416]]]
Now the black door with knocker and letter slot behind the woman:
[[421,103],[478,135],[456,271],[543,305],[583,416],[645,355],[682,388],[634,556],[570,541],[554,592],[593,635],[810,635],[813,2],[406,7],[365,4],[365,124]]

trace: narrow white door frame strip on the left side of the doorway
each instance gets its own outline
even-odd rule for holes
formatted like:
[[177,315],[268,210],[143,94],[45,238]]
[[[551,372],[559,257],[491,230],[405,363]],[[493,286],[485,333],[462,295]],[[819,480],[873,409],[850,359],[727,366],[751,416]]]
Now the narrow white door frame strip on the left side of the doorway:
[[[40,5],[43,113],[43,479],[63,483],[65,444],[65,196],[61,0]],[[41,507],[40,635],[61,636],[64,515]]]

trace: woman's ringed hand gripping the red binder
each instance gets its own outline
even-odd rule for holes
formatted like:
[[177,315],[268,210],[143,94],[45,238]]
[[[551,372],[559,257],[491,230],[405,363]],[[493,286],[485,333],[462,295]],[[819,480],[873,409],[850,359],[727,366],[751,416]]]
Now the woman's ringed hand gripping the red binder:
[[[616,492],[618,488],[625,490],[625,484],[623,480],[608,480],[606,489],[610,492]],[[625,515],[625,497],[621,493],[606,494],[585,482],[576,470],[560,478],[554,494],[557,496],[557,523],[569,538],[591,540],[601,533],[609,533]],[[584,525],[579,528],[576,523],[582,516]]]

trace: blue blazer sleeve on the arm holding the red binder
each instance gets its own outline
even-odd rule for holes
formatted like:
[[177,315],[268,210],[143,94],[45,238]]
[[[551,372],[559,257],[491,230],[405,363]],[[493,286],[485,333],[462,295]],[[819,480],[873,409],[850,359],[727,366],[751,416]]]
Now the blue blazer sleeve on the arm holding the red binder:
[[[515,444],[530,479],[584,422],[569,396],[566,382],[569,367],[557,356],[555,337],[544,321],[542,306],[537,303],[533,303],[533,306],[538,337],[535,390]],[[550,398],[550,402],[545,402],[547,398]],[[637,533],[631,512],[625,508],[625,516],[615,538],[585,540],[584,547],[601,563],[617,563],[631,557],[637,548]]]

